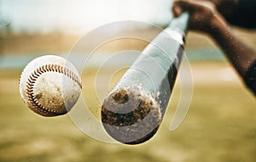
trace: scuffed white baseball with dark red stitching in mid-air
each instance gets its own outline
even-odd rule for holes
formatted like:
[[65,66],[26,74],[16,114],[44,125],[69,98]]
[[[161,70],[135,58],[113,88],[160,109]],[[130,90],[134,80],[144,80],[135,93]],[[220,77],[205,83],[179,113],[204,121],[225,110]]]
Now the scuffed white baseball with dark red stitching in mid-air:
[[45,55],[28,63],[20,75],[20,96],[38,115],[65,115],[82,89],[78,70],[59,56]]

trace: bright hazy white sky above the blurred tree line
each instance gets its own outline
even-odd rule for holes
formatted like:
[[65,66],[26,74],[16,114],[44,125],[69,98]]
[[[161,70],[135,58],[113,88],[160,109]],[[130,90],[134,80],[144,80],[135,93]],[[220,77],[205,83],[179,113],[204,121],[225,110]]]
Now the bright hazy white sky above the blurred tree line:
[[119,20],[163,25],[172,0],[0,0],[0,16],[15,32],[84,33]]

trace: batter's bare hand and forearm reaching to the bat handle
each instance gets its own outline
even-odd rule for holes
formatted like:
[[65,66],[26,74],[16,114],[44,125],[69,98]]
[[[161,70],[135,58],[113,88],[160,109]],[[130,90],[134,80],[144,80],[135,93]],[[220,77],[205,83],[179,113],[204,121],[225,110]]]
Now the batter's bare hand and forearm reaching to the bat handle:
[[[201,31],[209,34],[226,57],[233,64],[238,74],[247,83],[247,86],[255,93],[255,87],[251,76],[247,71],[254,70],[256,52],[251,47],[241,42],[240,38],[232,33],[222,14],[219,14],[221,6],[231,0],[173,0],[172,11],[175,17],[184,11],[189,12],[189,30]],[[232,2],[237,2],[234,0]],[[217,9],[217,8],[218,9]],[[227,10],[229,10],[227,8]],[[249,75],[251,75],[249,73]],[[252,73],[253,75],[253,73]],[[254,78],[253,78],[254,79]]]

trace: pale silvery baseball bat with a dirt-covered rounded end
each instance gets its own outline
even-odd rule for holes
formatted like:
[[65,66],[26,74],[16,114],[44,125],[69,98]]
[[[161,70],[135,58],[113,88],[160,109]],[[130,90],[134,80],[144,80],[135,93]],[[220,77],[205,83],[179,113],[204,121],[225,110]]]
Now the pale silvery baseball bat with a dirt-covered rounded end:
[[158,130],[183,56],[188,20],[188,13],[173,19],[104,99],[102,125],[115,140],[138,144]]

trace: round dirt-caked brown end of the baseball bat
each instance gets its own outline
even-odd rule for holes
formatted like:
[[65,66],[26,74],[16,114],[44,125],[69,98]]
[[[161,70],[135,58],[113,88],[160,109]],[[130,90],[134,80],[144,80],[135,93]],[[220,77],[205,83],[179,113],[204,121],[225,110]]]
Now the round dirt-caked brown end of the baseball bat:
[[122,88],[102,103],[102,124],[119,142],[138,144],[153,137],[161,123],[160,105],[144,92]]

